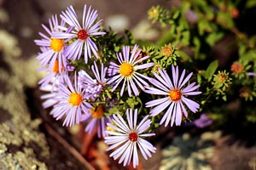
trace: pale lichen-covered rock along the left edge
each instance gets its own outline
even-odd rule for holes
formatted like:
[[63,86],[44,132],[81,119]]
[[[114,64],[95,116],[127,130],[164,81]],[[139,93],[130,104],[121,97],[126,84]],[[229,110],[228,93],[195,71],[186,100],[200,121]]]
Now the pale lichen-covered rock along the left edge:
[[26,62],[23,65],[15,62],[19,61],[16,57],[20,50],[15,37],[7,31],[0,31],[0,34],[3,38],[0,40],[3,55],[0,56],[3,59],[0,68],[0,169],[47,169],[41,160],[49,157],[49,146],[44,133],[38,129],[41,120],[30,117],[24,82],[20,78],[21,72],[22,77],[26,77]]

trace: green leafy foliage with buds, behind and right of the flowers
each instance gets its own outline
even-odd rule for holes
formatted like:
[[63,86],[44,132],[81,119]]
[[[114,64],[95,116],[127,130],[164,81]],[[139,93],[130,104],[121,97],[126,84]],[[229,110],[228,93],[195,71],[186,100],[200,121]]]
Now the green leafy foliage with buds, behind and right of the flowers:
[[[192,80],[201,85],[202,92],[201,97],[195,97],[195,100],[201,103],[201,111],[207,108],[212,117],[214,112],[216,117],[223,112],[221,109],[211,109],[211,105],[219,105],[220,100],[227,103],[236,98],[244,102],[253,101],[256,96],[256,80],[255,77],[249,77],[247,72],[256,72],[256,37],[247,35],[247,32],[238,30],[236,26],[241,1],[183,0],[181,4],[171,8],[156,5],[148,9],[148,19],[153,26],[160,24],[160,37],[155,42],[136,40],[129,30],[124,31],[124,36],[118,36],[111,28],[104,30],[106,35],[96,40],[101,53],[98,60],[108,64],[110,60],[116,59],[123,45],[132,48],[137,43],[140,44],[141,55],[150,56],[147,62],[154,62],[154,67],[144,71],[143,75],[151,77],[159,68],[170,71],[171,65],[193,71],[195,77]],[[244,8],[254,6],[253,1],[247,1]],[[235,50],[236,53],[232,54],[237,56],[229,56],[232,65],[223,65],[219,60],[219,51],[214,53],[214,57],[212,51],[230,35],[234,41],[227,44],[230,47],[228,50]],[[78,70],[88,67],[75,62],[73,65]],[[120,97],[119,92],[112,93],[110,90],[105,90],[100,96],[109,108],[114,106],[107,115],[124,113],[126,107],[138,108],[139,113],[148,114],[148,111],[143,110],[145,101],[141,96]],[[115,98],[118,102],[113,102]],[[255,122],[255,114],[248,112],[245,117],[248,122]],[[154,122],[153,126],[158,127],[158,122]]]

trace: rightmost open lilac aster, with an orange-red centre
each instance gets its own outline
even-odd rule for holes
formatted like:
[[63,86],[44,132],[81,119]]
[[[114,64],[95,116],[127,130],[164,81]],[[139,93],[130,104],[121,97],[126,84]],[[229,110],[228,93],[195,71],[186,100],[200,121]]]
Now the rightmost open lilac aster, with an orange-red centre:
[[195,101],[188,99],[189,95],[201,94],[199,91],[195,91],[200,85],[195,85],[195,82],[190,83],[187,87],[183,88],[189,78],[192,77],[191,72],[188,77],[185,77],[185,70],[183,70],[181,77],[178,77],[178,67],[172,65],[172,81],[167,75],[167,72],[159,69],[160,75],[154,73],[154,78],[150,82],[156,87],[146,87],[145,90],[148,94],[164,95],[164,98],[154,99],[146,103],[146,107],[155,106],[154,109],[150,111],[151,116],[157,116],[161,111],[166,108],[167,111],[162,117],[160,124],[165,123],[165,127],[171,121],[171,126],[175,122],[176,125],[180,125],[183,116],[188,116],[188,112],[183,104],[185,104],[190,111],[196,112],[200,108],[200,105]]

